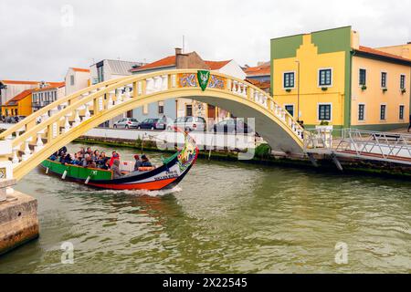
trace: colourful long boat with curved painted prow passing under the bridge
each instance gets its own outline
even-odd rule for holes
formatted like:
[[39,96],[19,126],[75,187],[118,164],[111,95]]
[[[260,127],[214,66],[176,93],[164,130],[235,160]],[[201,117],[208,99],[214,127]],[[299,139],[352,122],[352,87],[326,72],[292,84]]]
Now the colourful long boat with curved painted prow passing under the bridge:
[[[195,141],[184,133],[184,147],[173,156],[163,160],[163,165],[147,172],[124,172],[121,178],[113,179],[111,171],[62,164],[47,159],[41,167],[47,174],[58,175],[61,179],[83,183],[91,187],[110,190],[163,190],[172,189],[190,171],[198,156]],[[133,162],[123,162],[129,168]],[[121,170],[122,171],[122,170]]]

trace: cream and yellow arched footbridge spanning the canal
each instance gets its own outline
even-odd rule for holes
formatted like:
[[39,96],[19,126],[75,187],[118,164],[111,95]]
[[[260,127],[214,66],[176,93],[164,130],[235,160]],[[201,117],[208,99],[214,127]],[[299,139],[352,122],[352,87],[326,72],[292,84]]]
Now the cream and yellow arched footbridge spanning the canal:
[[302,128],[266,92],[214,71],[202,89],[197,73],[182,69],[112,79],[58,99],[0,134],[5,145],[0,151],[0,168],[6,168],[7,178],[19,180],[53,152],[102,122],[172,98],[195,99],[237,117],[255,118],[256,130],[274,150],[302,152]]

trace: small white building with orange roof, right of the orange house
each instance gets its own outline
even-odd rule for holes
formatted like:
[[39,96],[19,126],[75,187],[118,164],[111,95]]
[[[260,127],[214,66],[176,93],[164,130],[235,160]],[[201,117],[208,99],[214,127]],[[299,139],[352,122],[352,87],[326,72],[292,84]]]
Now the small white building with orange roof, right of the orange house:
[[46,107],[57,99],[64,98],[66,94],[65,82],[54,82],[54,84],[42,83],[38,89],[33,90],[31,106],[33,112]]

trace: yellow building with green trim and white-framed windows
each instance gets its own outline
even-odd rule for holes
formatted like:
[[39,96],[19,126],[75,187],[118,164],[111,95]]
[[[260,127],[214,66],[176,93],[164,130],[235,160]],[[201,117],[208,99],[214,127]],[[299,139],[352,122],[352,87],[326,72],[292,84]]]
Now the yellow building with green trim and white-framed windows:
[[365,130],[408,123],[411,59],[359,46],[351,26],[274,38],[271,64],[271,93],[306,128],[321,121]]

